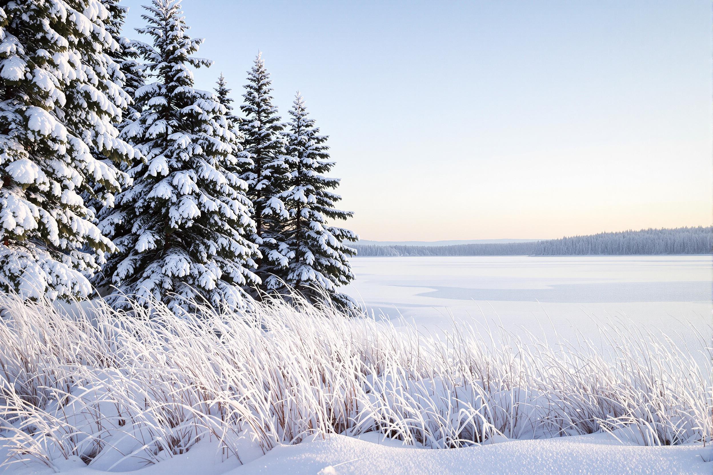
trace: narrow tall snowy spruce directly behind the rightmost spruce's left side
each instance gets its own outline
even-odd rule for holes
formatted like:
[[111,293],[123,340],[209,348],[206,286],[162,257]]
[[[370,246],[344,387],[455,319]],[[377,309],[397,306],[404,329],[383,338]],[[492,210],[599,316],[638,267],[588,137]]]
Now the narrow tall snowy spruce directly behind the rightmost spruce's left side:
[[240,131],[245,137],[242,160],[246,171],[247,197],[254,209],[257,230],[252,241],[260,245],[262,258],[257,275],[262,280],[262,291],[268,293],[282,287],[281,279],[287,269],[287,247],[282,239],[284,220],[289,217],[279,194],[287,188],[287,165],[284,163],[282,118],[272,105],[272,81],[265,69],[262,53],[258,53],[247,76],[245,103],[240,110],[245,118]]

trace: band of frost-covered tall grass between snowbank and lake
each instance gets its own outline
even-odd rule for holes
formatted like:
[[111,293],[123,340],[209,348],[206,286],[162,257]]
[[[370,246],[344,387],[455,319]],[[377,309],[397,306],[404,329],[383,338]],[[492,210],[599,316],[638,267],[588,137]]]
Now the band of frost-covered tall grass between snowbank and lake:
[[[281,301],[252,313],[75,313],[0,296],[9,461],[130,469],[212,439],[225,456],[369,432],[442,449],[607,431],[709,442],[710,353],[636,328],[604,347],[416,328]],[[493,337],[493,338],[491,338]],[[584,340],[583,340],[584,341]],[[497,343],[496,343],[497,342]],[[697,352],[707,358],[704,366]],[[242,447],[242,448],[241,448]]]

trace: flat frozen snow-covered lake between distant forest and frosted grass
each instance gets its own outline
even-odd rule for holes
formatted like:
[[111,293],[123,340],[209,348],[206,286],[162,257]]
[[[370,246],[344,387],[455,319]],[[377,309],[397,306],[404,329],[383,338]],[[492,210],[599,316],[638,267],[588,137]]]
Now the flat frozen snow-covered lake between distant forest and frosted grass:
[[357,257],[345,291],[377,315],[445,328],[502,323],[570,336],[595,322],[708,331],[711,256]]

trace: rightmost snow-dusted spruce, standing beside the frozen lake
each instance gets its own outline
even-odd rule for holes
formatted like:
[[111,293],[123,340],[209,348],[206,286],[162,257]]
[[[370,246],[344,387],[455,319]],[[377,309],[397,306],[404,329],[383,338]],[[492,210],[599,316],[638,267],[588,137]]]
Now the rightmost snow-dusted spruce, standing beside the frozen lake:
[[354,278],[349,256],[356,251],[345,246],[344,241],[356,242],[359,238],[352,231],[327,224],[327,219],[353,215],[334,208],[341,197],[329,191],[339,185],[339,179],[324,177],[334,167],[329,160],[327,136],[319,135],[319,127],[309,118],[299,93],[289,115],[285,132],[288,191],[280,195],[289,212],[283,231],[289,249],[289,270],[284,281],[313,303],[321,301],[326,291],[338,306],[356,310],[351,298],[337,292],[337,286]]

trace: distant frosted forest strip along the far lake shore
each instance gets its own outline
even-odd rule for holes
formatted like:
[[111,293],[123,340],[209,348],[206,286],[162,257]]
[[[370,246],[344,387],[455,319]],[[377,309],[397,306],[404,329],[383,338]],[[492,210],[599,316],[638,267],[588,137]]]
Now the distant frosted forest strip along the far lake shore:
[[573,236],[548,241],[454,246],[355,244],[357,256],[627,256],[712,254],[713,226],[642,229]]

